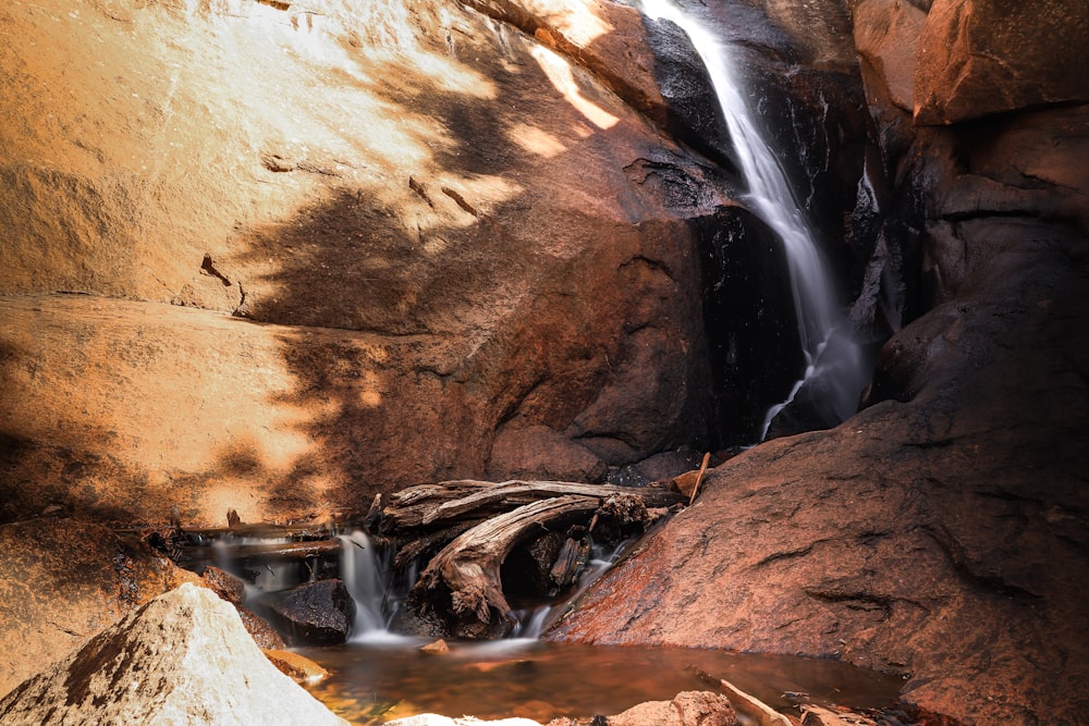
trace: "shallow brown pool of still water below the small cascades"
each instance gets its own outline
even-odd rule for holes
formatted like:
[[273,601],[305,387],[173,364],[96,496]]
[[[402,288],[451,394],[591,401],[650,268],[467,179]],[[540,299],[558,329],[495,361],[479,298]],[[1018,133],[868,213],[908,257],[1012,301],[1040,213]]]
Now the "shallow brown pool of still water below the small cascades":
[[841,663],[665,648],[600,648],[538,641],[454,643],[430,655],[423,641],[352,643],[301,652],[333,672],[309,688],[353,724],[418,713],[478,718],[616,714],[725,678],[773,707],[894,703],[902,681]]

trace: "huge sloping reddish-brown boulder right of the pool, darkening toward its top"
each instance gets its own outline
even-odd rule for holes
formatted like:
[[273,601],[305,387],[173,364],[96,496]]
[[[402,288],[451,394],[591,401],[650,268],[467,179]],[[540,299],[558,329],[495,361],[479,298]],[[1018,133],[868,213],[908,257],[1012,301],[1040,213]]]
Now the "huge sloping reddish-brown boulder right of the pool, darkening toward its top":
[[1008,218],[960,233],[987,251],[894,339],[904,403],[717,467],[552,637],[840,657],[962,723],[1085,713],[1085,238]]

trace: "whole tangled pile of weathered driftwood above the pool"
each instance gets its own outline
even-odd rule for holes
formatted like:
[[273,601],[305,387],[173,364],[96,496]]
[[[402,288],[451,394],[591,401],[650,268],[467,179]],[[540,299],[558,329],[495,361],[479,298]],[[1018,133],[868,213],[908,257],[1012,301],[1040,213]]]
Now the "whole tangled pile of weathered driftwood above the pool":
[[438,615],[450,635],[495,637],[515,623],[503,587],[513,552],[531,553],[519,566],[540,570],[528,578],[547,582],[537,594],[553,594],[585,566],[591,537],[615,544],[684,501],[660,487],[449,481],[376,500],[367,529],[396,547],[396,566],[433,554],[409,593],[412,607]]

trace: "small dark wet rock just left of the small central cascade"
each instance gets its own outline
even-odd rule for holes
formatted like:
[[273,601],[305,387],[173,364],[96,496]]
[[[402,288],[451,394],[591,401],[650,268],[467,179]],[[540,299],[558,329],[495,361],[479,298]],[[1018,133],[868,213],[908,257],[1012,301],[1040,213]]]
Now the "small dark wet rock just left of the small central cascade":
[[269,617],[293,645],[343,643],[355,619],[355,602],[341,580],[318,580],[268,596]]

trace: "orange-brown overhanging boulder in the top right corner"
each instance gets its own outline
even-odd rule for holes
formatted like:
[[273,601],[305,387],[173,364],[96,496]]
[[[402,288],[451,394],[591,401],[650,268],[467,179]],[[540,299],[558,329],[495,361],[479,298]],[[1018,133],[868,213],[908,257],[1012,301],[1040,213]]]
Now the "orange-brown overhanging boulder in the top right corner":
[[937,0],[919,39],[915,121],[951,124],[1089,101],[1089,5]]

